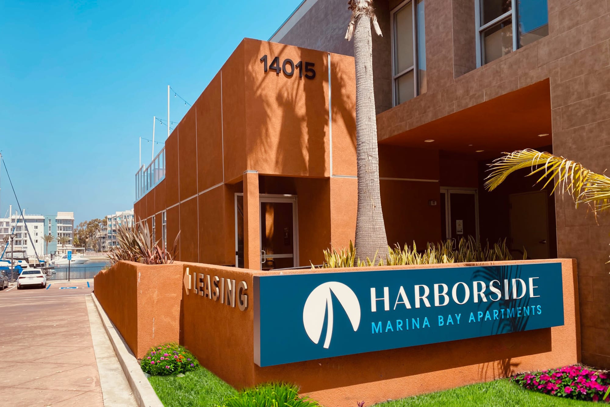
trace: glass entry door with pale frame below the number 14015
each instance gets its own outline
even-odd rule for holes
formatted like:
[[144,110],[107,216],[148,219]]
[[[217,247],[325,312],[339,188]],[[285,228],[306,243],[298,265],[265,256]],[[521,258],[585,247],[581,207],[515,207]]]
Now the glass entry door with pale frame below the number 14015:
[[298,265],[295,196],[260,196],[260,268]]

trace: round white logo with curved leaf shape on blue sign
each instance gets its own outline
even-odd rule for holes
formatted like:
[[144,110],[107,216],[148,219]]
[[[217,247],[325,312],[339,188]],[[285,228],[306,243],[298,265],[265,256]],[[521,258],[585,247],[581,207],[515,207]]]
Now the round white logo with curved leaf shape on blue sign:
[[350,319],[354,332],[358,330],[360,325],[360,303],[350,287],[337,281],[329,281],[315,287],[307,297],[303,307],[303,326],[309,339],[317,344],[320,342],[325,316],[328,312],[328,326],[326,327],[326,339],[324,340],[324,348],[326,349],[331,345],[332,337],[332,294],[339,300],[343,311]]

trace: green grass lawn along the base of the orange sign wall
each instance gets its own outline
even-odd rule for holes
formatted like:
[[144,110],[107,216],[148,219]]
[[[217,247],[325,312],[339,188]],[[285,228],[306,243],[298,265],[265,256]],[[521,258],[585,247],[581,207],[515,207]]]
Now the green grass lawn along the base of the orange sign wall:
[[[222,405],[226,398],[237,394],[233,387],[224,383],[203,367],[185,373],[184,377],[151,376],[148,380],[165,407],[215,407]],[[357,397],[357,395],[354,395],[354,397]],[[356,407],[356,401],[354,398],[354,407]],[[563,407],[592,405],[590,402],[578,402],[528,391],[504,379],[471,384],[470,386],[457,387],[443,392],[407,397],[401,400],[392,400],[378,406]],[[368,403],[366,406],[368,406]]]

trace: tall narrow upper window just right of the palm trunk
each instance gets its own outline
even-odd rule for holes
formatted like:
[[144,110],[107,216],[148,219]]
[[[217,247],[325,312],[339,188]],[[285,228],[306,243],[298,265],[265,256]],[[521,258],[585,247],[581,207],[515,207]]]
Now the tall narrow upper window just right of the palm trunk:
[[392,81],[396,106],[426,92],[424,0],[406,0],[392,10]]

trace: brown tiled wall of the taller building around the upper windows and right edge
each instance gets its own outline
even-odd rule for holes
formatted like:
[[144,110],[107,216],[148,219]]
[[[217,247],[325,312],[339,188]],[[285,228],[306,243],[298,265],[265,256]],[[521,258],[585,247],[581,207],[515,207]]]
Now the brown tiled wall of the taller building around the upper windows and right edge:
[[[379,140],[549,79],[554,153],[605,171],[610,165],[609,2],[548,0],[547,37],[475,69],[474,1],[426,1],[427,93],[388,109],[390,35],[373,42]],[[375,1],[384,34],[389,10],[398,3]],[[282,42],[351,54],[352,46],[343,40],[349,18],[344,0],[320,0]],[[605,264],[610,215],[597,224],[566,196],[556,198],[556,218],[558,254],[579,264],[583,362],[610,367],[610,265]]]

